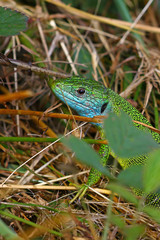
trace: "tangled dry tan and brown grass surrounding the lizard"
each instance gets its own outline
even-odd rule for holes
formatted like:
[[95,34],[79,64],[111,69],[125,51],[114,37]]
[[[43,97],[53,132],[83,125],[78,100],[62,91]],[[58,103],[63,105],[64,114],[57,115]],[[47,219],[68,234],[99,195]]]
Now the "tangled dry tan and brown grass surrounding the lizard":
[[[88,125],[85,125],[81,130],[71,120],[50,118],[48,111],[69,114],[46,83],[51,72],[54,77],[58,72],[62,74],[60,76],[80,74],[102,81],[121,96],[129,98],[158,128],[160,19],[155,5],[149,8],[134,29],[140,33],[144,48],[131,34],[121,43],[124,29],[131,26],[126,21],[97,17],[54,0],[46,0],[36,6],[19,5],[11,0],[1,4],[9,4],[9,7],[27,14],[29,24],[28,31],[15,39],[1,38],[0,51],[11,59],[14,55],[27,65],[32,62],[39,68],[50,70],[47,74],[25,67],[26,70],[1,66],[0,91],[10,95],[9,102],[1,103],[1,111],[6,111],[1,115],[1,136],[57,138],[58,134],[71,132],[82,136],[87,131],[89,137],[97,138],[93,127],[88,130]],[[107,7],[106,4],[106,11]],[[31,90],[34,95],[27,96],[27,99],[25,95],[24,99],[17,101],[14,95],[16,86],[20,91]],[[13,109],[32,110],[33,115],[18,115],[17,118],[9,115]],[[36,116],[36,111],[44,115]],[[13,216],[41,226],[36,228],[20,219],[1,215],[23,239],[101,239],[108,218],[106,209],[111,201],[111,192],[105,189],[106,179],[102,178],[97,184],[97,193],[91,189],[82,202],[77,200],[70,205],[75,187],[69,184],[86,182],[88,171],[86,173],[83,165],[73,161],[74,156],[58,140],[51,144],[18,140],[1,143],[0,156],[0,184],[2,187],[5,183],[6,186],[0,189],[1,209],[8,209]],[[126,229],[135,223],[144,225],[145,233],[138,239],[159,239],[160,227],[154,220],[116,195],[113,202],[112,211],[120,216]],[[63,234],[63,237],[50,230]],[[108,239],[124,239],[124,234],[124,227],[117,227],[111,220]]]

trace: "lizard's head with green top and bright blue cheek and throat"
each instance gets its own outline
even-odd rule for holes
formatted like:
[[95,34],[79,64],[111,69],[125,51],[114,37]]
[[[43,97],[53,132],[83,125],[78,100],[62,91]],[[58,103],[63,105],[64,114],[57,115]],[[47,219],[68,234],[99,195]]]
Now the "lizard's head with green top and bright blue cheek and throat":
[[51,80],[53,93],[79,115],[94,117],[111,111],[107,89],[99,82],[80,77]]

